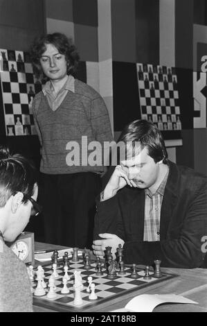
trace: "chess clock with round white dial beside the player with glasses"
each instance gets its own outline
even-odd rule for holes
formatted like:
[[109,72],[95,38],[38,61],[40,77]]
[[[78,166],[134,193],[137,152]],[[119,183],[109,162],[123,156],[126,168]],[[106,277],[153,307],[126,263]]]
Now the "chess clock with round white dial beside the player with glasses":
[[10,248],[17,257],[25,264],[35,264],[34,233],[22,232],[19,237],[10,245]]

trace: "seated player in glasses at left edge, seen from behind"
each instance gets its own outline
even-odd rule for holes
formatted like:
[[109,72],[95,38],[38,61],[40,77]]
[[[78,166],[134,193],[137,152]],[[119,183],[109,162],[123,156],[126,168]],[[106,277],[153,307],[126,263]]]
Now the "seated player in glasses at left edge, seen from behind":
[[15,241],[37,215],[37,174],[21,155],[0,148],[0,311],[33,311],[26,265],[5,241]]

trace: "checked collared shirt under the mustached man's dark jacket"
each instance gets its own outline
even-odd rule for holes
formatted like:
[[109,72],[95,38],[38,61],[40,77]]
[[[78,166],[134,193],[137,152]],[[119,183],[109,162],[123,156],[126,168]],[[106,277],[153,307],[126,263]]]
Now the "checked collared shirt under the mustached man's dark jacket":
[[155,193],[145,189],[144,241],[160,241],[160,217],[169,168]]

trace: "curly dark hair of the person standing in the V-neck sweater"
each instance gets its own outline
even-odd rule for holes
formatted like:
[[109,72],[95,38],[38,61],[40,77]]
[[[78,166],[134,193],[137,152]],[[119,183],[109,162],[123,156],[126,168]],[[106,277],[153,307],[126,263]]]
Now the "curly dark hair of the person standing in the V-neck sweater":
[[68,62],[67,74],[74,76],[80,60],[78,51],[66,35],[62,33],[53,33],[36,37],[33,44],[30,46],[30,59],[37,79],[45,77],[39,59],[42,53],[46,51],[46,44],[53,44],[61,54],[66,56]]

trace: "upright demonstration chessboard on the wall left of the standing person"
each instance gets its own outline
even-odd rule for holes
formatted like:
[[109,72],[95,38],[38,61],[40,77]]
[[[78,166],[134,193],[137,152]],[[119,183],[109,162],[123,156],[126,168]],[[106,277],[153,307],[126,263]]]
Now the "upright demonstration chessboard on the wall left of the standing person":
[[32,103],[42,84],[33,75],[29,54],[0,49],[0,76],[6,135],[36,135]]

